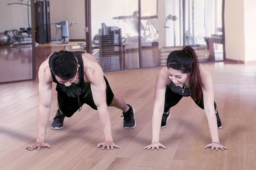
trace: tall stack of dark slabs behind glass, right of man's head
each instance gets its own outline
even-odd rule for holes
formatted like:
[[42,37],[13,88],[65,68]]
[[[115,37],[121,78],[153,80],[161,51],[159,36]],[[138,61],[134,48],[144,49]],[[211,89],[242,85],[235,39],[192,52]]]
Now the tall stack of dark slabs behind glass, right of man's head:
[[99,65],[103,71],[122,69],[123,60],[122,29],[102,23],[99,29]]

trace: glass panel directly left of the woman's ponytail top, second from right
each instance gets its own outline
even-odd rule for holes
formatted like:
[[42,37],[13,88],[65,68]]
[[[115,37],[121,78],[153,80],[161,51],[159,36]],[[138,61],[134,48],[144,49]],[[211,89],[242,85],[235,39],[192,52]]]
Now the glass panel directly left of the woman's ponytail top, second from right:
[[183,48],[182,7],[182,0],[141,0],[142,68],[166,65],[168,55]]

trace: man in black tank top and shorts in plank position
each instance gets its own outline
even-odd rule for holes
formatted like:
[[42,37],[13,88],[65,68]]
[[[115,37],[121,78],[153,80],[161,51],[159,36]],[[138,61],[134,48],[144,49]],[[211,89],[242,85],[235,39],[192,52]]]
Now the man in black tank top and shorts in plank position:
[[51,125],[53,129],[63,128],[64,118],[71,117],[77,110],[81,111],[84,103],[99,111],[105,142],[99,143],[97,147],[119,148],[113,142],[108,106],[123,111],[125,129],[136,126],[134,108],[126,104],[120,96],[113,94],[102,68],[91,54],[81,51],[54,52],[41,64],[38,79],[38,137],[35,144],[26,147],[28,150],[51,147],[44,140],[52,102],[52,82],[57,84],[58,95],[58,111]]

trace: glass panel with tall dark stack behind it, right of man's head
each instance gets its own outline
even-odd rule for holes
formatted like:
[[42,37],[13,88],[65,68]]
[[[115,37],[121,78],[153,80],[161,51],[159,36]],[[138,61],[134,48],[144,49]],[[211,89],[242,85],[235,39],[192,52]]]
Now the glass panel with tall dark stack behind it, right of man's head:
[[138,0],[92,0],[91,34],[103,71],[140,68]]

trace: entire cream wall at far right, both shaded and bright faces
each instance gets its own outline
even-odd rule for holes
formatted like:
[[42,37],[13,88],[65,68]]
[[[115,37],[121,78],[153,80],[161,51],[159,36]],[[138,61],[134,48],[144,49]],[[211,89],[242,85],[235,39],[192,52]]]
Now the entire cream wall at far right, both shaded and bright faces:
[[227,59],[256,61],[256,1],[225,0],[225,40]]

